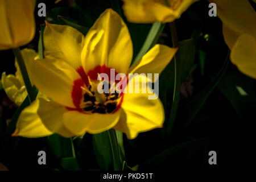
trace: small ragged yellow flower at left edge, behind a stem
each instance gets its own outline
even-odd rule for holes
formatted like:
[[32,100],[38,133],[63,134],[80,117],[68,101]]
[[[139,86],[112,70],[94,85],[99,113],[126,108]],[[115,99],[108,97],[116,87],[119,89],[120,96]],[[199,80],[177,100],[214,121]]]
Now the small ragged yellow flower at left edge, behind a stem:
[[[33,49],[27,49],[27,48],[23,49],[21,53],[22,53],[26,68],[28,69],[31,61],[34,60],[35,57],[38,56],[38,54]],[[22,102],[26,98],[27,90],[26,90],[26,86],[24,85],[22,74],[20,72],[16,59],[15,59],[15,67],[16,67],[15,75],[11,75],[11,74],[6,75],[6,73],[3,72],[1,81],[2,81],[3,89],[5,89],[7,96],[10,98],[11,101],[13,101],[17,106],[19,106],[20,104],[22,104]]]

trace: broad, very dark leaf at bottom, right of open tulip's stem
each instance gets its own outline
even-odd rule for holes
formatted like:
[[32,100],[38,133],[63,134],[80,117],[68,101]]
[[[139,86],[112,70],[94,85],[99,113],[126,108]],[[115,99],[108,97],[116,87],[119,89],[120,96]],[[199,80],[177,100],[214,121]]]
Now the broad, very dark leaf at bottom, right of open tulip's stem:
[[139,164],[139,170],[203,168],[207,156],[207,138],[176,144]]

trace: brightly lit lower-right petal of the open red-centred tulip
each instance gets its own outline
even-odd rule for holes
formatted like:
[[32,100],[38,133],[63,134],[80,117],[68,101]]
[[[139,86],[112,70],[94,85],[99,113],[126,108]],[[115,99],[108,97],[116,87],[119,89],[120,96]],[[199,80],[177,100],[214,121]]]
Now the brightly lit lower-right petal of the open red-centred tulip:
[[[143,79],[140,82],[142,83]],[[129,84],[130,81],[128,87]],[[148,96],[152,95],[156,99],[148,99]],[[126,133],[129,139],[136,138],[141,132],[163,126],[164,109],[155,93],[125,93],[121,108],[121,117],[114,129]]]

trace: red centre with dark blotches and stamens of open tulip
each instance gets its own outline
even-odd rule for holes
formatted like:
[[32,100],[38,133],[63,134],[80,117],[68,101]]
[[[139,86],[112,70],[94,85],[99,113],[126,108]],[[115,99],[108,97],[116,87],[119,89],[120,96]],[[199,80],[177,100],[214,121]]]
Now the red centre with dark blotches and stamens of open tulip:
[[[123,100],[123,93],[114,93],[110,89],[113,89],[115,84],[120,82],[115,80],[110,82],[110,68],[105,65],[97,66],[90,70],[88,74],[85,73],[84,69],[80,66],[76,70],[81,78],[73,81],[72,100],[76,106],[75,110],[79,110],[84,113],[115,113],[121,107]],[[106,73],[109,77],[109,81],[106,82],[104,79],[97,80],[100,73]],[[115,72],[114,76],[118,73]],[[100,82],[105,81],[105,85],[108,85],[109,93],[98,93],[97,86]],[[111,85],[112,84],[112,85]],[[104,86],[102,86],[104,89]],[[73,110],[73,109],[71,109]]]

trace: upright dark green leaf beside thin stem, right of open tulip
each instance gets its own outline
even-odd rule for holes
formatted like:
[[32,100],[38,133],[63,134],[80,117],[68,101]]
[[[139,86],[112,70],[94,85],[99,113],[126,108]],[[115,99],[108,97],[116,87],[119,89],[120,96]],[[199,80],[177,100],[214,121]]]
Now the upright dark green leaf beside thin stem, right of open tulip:
[[[176,118],[177,107],[179,104],[180,86],[182,82],[187,78],[189,71],[191,70],[195,61],[195,42],[192,39],[183,40],[179,43],[179,50],[177,51],[176,60],[176,83],[175,80],[171,80],[170,77],[175,77],[175,63],[168,65],[167,71],[164,73],[166,77],[166,84],[175,85],[174,101],[172,102],[171,114],[168,121],[165,123],[164,132],[170,135],[174,121]],[[174,62],[174,61],[172,61]],[[170,81],[168,81],[170,80]],[[173,82],[172,82],[173,81]],[[167,85],[166,85],[167,86]],[[164,87],[165,88],[165,87]],[[166,87],[168,91],[168,86]],[[170,90],[169,90],[170,91]]]

